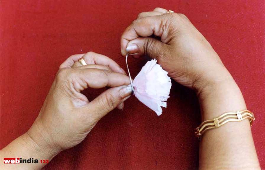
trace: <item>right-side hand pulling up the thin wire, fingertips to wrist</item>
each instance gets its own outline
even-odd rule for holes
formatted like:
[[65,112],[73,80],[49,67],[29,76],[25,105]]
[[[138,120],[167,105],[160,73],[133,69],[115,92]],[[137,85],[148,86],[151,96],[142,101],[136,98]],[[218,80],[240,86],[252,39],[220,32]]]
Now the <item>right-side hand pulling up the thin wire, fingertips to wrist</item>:
[[[170,77],[200,91],[213,84],[232,80],[219,56],[184,14],[156,8],[142,12],[121,37],[123,56],[156,58]],[[161,38],[150,37],[155,35]]]

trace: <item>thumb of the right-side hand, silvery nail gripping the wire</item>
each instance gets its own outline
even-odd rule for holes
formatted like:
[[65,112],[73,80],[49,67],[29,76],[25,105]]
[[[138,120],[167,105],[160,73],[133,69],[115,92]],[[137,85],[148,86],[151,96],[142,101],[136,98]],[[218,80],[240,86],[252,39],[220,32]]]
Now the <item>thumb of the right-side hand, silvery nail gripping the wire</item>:
[[167,44],[151,37],[139,37],[127,44],[126,52],[130,55],[148,55],[157,60],[167,51]]

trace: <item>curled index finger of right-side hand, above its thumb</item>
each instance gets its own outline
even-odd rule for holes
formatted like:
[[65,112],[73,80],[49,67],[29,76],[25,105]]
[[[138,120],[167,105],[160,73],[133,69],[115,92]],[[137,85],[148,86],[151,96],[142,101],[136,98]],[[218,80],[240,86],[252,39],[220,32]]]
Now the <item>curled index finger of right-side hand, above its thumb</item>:
[[127,27],[121,37],[121,53],[126,55],[126,47],[129,41],[138,37],[148,37],[151,35],[161,37],[163,43],[168,43],[168,36],[172,22],[168,22],[175,13],[169,13],[159,16],[144,17],[132,22]]

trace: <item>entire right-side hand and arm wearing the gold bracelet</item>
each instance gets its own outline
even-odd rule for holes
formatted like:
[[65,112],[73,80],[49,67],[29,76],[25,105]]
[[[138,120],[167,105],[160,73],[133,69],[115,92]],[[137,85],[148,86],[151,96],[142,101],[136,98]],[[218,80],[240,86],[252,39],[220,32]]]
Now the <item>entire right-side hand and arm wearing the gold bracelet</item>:
[[[140,13],[122,34],[122,55],[156,58],[175,81],[194,88],[202,121],[246,109],[240,89],[203,35],[185,15],[167,12]],[[199,157],[199,169],[260,169],[248,120],[203,134]]]

